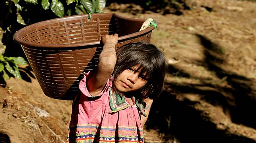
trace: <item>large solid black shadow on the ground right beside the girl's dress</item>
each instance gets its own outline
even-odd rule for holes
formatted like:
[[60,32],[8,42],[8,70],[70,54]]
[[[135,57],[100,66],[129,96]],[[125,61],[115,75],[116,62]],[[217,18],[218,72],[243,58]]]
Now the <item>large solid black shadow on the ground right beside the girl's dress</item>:
[[[172,84],[168,86],[173,86]],[[175,87],[173,87],[175,88]],[[180,89],[177,89],[180,90]],[[216,125],[202,115],[201,111],[191,107],[199,104],[190,100],[180,102],[175,95],[176,91],[164,91],[155,100],[151,107],[151,115],[146,124],[146,129],[159,130],[164,134],[165,141],[178,139],[180,143],[254,143],[253,139],[230,134],[227,130],[219,130]],[[192,90],[191,92],[194,92]],[[205,92],[198,90],[198,92]],[[208,91],[211,93],[211,91]]]

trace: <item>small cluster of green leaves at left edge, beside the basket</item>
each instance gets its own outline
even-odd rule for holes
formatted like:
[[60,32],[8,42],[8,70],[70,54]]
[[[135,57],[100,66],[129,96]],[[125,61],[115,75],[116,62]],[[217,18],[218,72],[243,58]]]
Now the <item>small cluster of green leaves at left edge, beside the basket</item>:
[[25,65],[27,62],[22,57],[6,57],[0,55],[0,76],[4,80],[9,79],[8,73],[13,75],[16,79],[21,79],[18,65]]

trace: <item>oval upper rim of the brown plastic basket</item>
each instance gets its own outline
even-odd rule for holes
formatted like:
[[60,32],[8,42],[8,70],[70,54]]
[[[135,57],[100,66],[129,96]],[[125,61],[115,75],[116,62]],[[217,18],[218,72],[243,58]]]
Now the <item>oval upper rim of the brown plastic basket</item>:
[[[93,13],[91,15],[105,15],[106,13]],[[120,16],[116,13],[108,13],[108,14],[112,14],[116,17],[119,17],[121,19],[124,19],[124,20],[133,20],[133,21],[142,21],[144,22],[146,19],[135,19],[135,18],[128,18],[128,17],[123,17],[123,16]],[[34,23],[34,24],[31,24],[31,25],[28,25],[28,26],[25,26],[23,28],[21,28],[20,30],[18,30],[17,32],[15,32],[14,34],[14,41],[16,41],[17,43],[19,44],[22,44],[22,45],[27,45],[27,46],[32,46],[32,47],[50,47],[50,48],[68,48],[68,47],[80,47],[80,46],[87,46],[87,45],[97,45],[97,44],[100,44],[101,41],[94,41],[94,42],[88,42],[88,43],[69,43],[69,44],[39,44],[39,43],[31,43],[31,42],[27,42],[27,41],[22,41],[18,38],[19,34],[23,31],[23,30],[27,30],[33,26],[36,26],[38,24],[41,24],[41,23],[49,23],[51,21],[62,21],[64,19],[68,19],[68,18],[72,18],[72,17],[87,17],[88,14],[83,14],[83,15],[73,15],[73,16],[68,16],[68,17],[60,17],[60,18],[56,18],[56,19],[50,19],[50,20],[46,20],[46,21],[41,21],[41,22],[38,22],[38,23]],[[155,23],[157,24],[157,21],[155,21]],[[118,37],[118,41],[120,40],[126,40],[126,39],[129,39],[129,38],[132,38],[134,36],[140,36],[142,34],[145,34],[147,32],[150,32],[151,30],[153,30],[154,27],[153,26],[150,26],[148,28],[146,28],[145,30],[142,30],[142,31],[139,31],[139,32],[134,32],[132,34],[128,34],[128,35],[124,35],[124,36],[120,36]]]

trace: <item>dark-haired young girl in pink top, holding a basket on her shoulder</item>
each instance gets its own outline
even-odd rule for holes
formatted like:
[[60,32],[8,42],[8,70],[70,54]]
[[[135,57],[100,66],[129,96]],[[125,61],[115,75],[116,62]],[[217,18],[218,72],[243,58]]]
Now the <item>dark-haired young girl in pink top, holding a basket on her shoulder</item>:
[[143,125],[164,83],[165,58],[150,43],[116,52],[118,35],[102,38],[98,68],[84,73],[74,102],[69,143],[143,143]]

